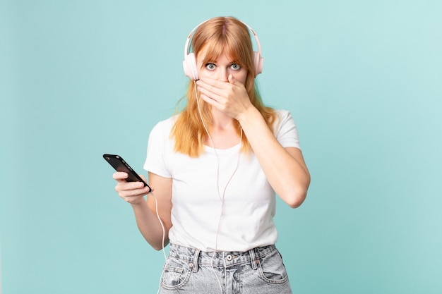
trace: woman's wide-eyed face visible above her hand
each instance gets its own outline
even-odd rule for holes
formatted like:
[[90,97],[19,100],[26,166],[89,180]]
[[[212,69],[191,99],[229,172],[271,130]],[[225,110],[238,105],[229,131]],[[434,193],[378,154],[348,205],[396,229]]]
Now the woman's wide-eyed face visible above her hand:
[[208,61],[203,64],[205,60],[205,51],[201,51],[198,54],[196,66],[198,68],[198,75],[201,79],[213,78],[222,82],[228,82],[229,75],[233,75],[236,80],[239,80],[243,85],[247,79],[247,69],[241,68],[238,63],[232,61],[232,59],[222,51],[222,54],[217,60]]

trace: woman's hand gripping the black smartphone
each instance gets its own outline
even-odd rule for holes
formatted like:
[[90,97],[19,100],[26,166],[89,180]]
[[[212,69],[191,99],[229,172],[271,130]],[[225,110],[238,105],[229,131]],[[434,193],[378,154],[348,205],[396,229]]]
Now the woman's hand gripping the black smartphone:
[[[142,182],[126,182],[127,177],[128,174],[121,171],[117,171],[112,175],[112,178],[117,180],[115,190],[118,192],[119,197],[132,205],[145,202],[143,196],[148,194],[149,188],[145,187]],[[144,176],[141,175],[141,178],[146,181]]]

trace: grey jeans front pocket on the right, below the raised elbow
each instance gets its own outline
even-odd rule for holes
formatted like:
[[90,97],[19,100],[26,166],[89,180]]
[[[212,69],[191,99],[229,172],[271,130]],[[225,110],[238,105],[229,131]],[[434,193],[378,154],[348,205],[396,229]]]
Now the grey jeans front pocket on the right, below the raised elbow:
[[263,281],[271,284],[287,282],[287,271],[279,251],[274,250],[258,260],[258,273]]

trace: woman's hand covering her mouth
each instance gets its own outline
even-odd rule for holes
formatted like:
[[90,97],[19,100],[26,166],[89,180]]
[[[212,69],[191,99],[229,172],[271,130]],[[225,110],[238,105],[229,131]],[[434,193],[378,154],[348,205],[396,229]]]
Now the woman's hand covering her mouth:
[[196,85],[205,102],[237,120],[252,106],[246,88],[233,75],[228,76],[227,82],[204,78]]

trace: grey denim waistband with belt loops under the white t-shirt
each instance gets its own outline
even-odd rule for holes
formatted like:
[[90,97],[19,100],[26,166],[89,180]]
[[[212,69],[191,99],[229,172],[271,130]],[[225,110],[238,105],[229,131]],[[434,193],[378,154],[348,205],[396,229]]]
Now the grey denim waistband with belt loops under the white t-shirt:
[[[203,252],[196,248],[184,247],[170,244],[169,257],[186,260],[192,266],[207,265],[212,267],[232,267],[236,264],[251,262],[253,269],[256,269],[258,259],[265,257],[276,250],[275,245],[256,247],[244,252]],[[215,256],[213,256],[215,254]]]

